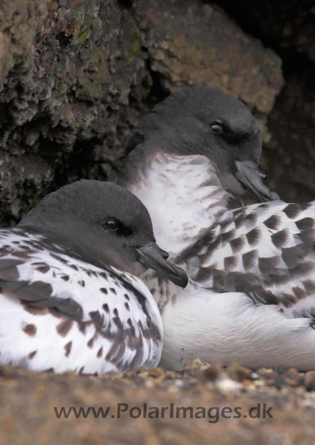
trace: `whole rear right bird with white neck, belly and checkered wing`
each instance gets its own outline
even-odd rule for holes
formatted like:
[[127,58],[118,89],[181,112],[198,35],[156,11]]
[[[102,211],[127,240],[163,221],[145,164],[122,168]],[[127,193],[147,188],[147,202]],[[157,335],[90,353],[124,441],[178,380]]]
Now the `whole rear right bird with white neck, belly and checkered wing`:
[[[256,175],[252,190],[258,184],[257,195],[266,191],[257,168],[257,130],[245,124],[252,115],[240,102],[239,111],[235,99],[217,89],[172,95],[140,122],[143,141],[122,172],[121,184],[150,211],[157,241],[190,277],[181,291],[145,274],[162,314],[161,364],[179,370],[200,357],[252,368],[314,369],[315,203],[229,208],[231,195],[241,190],[235,183],[241,156]],[[207,119],[208,127],[217,119],[228,131],[211,136]],[[138,156],[141,170],[133,172]],[[230,163],[222,167],[224,159]],[[266,191],[266,197],[276,195]]]

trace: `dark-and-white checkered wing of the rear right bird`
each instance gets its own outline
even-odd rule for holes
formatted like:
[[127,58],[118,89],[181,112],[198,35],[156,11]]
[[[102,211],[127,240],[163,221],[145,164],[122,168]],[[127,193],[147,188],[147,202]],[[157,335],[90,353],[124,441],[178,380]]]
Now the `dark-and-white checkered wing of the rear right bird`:
[[314,247],[315,203],[278,201],[227,211],[180,261],[198,286],[313,316]]

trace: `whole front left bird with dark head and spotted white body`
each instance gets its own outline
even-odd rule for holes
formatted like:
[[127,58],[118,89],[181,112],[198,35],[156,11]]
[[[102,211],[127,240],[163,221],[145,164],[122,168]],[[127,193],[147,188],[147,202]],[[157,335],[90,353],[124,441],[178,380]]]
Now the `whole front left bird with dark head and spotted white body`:
[[97,374],[157,366],[161,315],[128,271],[147,270],[147,242],[157,248],[143,204],[100,181],[65,186],[18,227],[0,229],[0,364]]

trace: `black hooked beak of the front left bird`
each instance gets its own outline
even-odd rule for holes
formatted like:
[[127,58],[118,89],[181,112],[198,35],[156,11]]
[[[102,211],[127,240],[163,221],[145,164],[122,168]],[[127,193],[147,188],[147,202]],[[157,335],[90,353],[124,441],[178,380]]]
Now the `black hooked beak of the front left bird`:
[[159,248],[156,243],[149,243],[144,248],[137,249],[139,259],[143,266],[156,270],[162,275],[165,275],[170,281],[182,288],[186,287],[188,283],[188,276],[184,269],[181,269],[174,264],[166,261],[168,252]]

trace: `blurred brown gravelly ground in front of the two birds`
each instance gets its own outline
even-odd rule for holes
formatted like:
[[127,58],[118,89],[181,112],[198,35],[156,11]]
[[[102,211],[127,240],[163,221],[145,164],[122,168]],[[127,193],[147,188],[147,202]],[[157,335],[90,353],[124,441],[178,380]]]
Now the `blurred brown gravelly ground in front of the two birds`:
[[[302,375],[296,369],[252,373],[236,365],[223,370],[199,361],[184,373],[158,368],[100,377],[38,375],[6,366],[0,368],[0,444],[310,445],[315,434],[314,382],[314,373]],[[120,419],[118,404],[128,405],[121,405]],[[86,419],[82,411],[76,419],[73,410],[67,419],[62,414],[58,419],[54,407],[58,414],[62,407],[66,413],[82,407]],[[104,412],[109,407],[107,418],[99,407]],[[167,408],[163,419],[161,407]],[[176,418],[177,407],[193,408],[193,418],[189,408],[186,419],[184,410]],[[205,408],[204,418],[197,407]],[[157,413],[159,418],[150,418]]]

